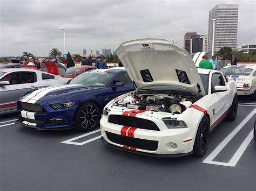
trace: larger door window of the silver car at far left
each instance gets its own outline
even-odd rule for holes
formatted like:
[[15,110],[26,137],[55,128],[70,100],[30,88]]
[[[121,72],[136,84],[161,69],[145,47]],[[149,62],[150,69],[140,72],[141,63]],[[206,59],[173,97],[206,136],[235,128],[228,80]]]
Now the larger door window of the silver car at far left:
[[4,77],[4,81],[9,81],[10,85],[22,84],[22,83],[34,83],[36,82],[35,72],[14,72]]

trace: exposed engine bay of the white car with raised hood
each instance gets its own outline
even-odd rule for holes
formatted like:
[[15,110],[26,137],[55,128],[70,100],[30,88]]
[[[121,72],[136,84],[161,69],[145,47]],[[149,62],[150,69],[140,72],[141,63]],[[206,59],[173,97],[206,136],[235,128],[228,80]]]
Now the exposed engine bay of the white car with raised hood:
[[113,106],[126,107],[154,112],[170,112],[181,114],[197,100],[193,96],[165,94],[130,94],[117,100]]

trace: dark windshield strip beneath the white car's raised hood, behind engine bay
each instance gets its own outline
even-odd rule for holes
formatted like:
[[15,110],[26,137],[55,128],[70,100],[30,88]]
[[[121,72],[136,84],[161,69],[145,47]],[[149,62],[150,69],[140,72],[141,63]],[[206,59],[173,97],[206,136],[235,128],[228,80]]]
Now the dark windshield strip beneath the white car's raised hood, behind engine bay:
[[169,86],[169,85],[153,85],[153,86],[147,86],[142,89],[138,89],[139,93],[144,93],[144,91],[147,91],[147,93],[152,94],[175,94],[180,95],[180,93],[185,94],[192,94],[192,95],[198,95],[197,92],[191,91],[190,89],[181,88],[178,86]]

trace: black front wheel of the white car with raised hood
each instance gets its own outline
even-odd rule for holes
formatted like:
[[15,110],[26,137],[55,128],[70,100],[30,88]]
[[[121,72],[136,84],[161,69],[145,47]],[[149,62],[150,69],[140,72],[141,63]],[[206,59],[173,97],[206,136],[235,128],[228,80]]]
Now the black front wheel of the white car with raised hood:
[[197,157],[205,155],[210,134],[210,120],[204,116],[199,123],[196,139],[194,140],[193,153]]

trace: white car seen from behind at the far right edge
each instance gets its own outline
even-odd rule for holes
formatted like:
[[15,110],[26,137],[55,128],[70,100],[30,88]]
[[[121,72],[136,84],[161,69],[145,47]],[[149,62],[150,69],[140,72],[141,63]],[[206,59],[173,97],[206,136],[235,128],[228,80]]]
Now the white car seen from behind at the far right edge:
[[253,95],[256,98],[256,66],[232,65],[220,71],[235,80],[238,95]]

